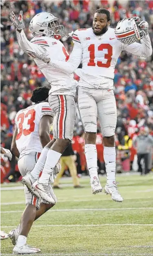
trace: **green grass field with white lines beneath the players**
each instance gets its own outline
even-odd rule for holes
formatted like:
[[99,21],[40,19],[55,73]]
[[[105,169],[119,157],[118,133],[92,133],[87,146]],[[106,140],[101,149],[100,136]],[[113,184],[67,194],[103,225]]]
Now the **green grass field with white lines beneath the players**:
[[[62,189],[55,190],[57,205],[34,223],[28,244],[40,248],[40,255],[153,255],[153,175],[117,180],[122,203],[91,194],[89,178],[80,179],[83,189],[73,189],[71,178],[62,179]],[[23,190],[1,191],[1,230],[16,227],[23,209]],[[1,241],[1,255],[12,249],[11,240]]]

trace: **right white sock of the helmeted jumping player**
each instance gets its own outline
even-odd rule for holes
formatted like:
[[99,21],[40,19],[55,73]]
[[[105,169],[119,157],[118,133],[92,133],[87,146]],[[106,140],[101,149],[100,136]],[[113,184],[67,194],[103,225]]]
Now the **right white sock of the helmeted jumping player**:
[[49,183],[49,178],[61,156],[62,154],[60,154],[59,152],[49,149],[46,162],[44,164],[44,169],[42,170],[42,175],[39,179],[39,183]]

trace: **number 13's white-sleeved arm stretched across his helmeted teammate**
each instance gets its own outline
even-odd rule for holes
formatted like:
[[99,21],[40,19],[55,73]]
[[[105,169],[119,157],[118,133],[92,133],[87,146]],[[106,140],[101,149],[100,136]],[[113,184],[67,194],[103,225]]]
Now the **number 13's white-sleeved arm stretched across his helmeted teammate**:
[[44,61],[49,66],[55,69],[58,69],[64,73],[71,74],[78,68],[82,60],[81,42],[80,40],[75,41],[74,39],[73,39],[73,42],[74,42],[73,50],[67,62],[59,61],[59,60],[51,60],[50,58],[46,57],[45,54],[34,53],[34,55],[38,60]]

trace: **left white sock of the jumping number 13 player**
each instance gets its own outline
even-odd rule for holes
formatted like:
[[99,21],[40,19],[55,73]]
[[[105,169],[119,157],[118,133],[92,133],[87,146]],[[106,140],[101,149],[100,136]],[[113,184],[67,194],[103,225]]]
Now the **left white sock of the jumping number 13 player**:
[[94,144],[86,144],[84,147],[86,163],[89,170],[90,178],[98,177],[97,171],[97,149]]

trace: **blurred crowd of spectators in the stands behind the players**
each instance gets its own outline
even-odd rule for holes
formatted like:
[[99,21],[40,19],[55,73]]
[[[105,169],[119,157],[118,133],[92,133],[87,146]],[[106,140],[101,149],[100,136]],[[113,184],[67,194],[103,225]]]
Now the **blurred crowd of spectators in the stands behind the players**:
[[[153,1],[2,0],[0,4],[1,144],[3,146],[11,141],[16,113],[31,104],[29,99],[32,90],[38,86],[48,85],[35,62],[18,46],[15,27],[9,20],[11,10],[17,15],[23,10],[26,25],[24,31],[29,40],[32,38],[29,22],[35,14],[42,11],[58,16],[66,34],[78,28],[91,27],[93,13],[98,8],[109,9],[111,27],[115,27],[122,18],[140,16],[149,22],[149,34],[153,45]],[[62,38],[62,42],[71,53],[73,48],[71,38]],[[146,127],[147,133],[153,135],[153,56],[144,59],[123,51],[115,68],[114,85],[118,107],[116,147],[123,145],[125,136],[132,139],[141,127]],[[99,122],[98,132],[100,132]],[[74,134],[74,140],[80,138],[82,143],[84,134],[79,114]],[[100,137],[97,140],[102,147]]]

